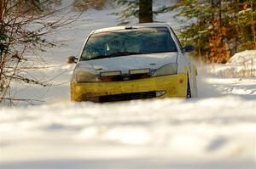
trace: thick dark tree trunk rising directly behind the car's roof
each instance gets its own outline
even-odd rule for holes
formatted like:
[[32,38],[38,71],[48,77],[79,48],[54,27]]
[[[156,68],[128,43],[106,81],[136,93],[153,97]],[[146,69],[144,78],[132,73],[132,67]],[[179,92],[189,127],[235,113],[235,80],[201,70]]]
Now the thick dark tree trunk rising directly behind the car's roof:
[[152,0],[139,0],[139,22],[153,22]]

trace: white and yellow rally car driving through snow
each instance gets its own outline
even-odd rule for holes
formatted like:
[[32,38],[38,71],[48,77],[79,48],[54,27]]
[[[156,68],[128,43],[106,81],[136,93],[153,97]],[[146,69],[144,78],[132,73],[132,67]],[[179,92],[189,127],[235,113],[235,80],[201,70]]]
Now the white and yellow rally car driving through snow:
[[71,80],[71,100],[97,103],[197,95],[196,69],[166,24],[92,31]]

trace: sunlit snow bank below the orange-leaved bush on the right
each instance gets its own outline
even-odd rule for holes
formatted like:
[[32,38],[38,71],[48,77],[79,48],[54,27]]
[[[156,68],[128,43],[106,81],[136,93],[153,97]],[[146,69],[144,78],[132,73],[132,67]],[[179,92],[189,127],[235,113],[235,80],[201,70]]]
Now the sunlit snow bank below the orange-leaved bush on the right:
[[256,76],[256,50],[235,54],[225,65],[207,65],[207,72],[218,76]]

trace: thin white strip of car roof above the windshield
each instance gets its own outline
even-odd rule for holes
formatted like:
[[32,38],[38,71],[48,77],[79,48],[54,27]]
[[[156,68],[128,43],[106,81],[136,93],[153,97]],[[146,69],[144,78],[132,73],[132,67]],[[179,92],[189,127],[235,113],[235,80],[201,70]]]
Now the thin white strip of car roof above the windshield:
[[120,31],[125,30],[127,27],[133,27],[133,28],[143,28],[143,27],[167,27],[166,23],[146,23],[146,24],[136,24],[136,25],[120,25],[120,26],[114,26],[114,27],[107,27],[102,29],[97,29],[93,33],[102,33],[106,31]]

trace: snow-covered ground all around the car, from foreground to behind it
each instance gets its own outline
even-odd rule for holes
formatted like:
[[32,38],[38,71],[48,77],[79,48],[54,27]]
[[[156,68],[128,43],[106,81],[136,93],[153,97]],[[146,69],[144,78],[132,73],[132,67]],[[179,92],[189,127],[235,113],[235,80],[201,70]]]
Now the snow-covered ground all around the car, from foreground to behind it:
[[[0,168],[255,168],[255,77],[207,76],[202,67],[196,99],[69,102],[67,56],[79,55],[92,29],[116,25],[112,12],[91,10],[54,35],[65,45],[44,53],[49,68],[32,72],[57,76],[54,85],[14,91],[44,103],[0,108]],[[158,19],[177,27],[171,14]]]

